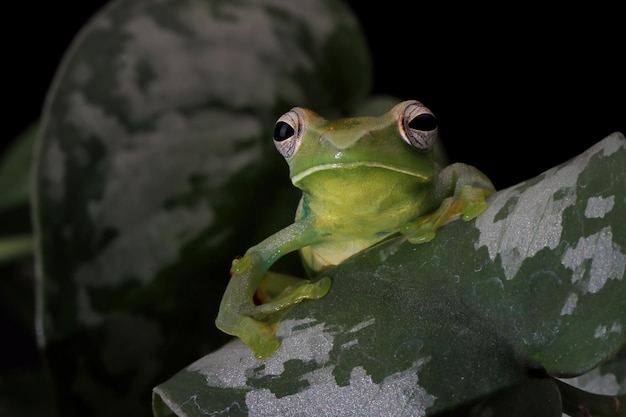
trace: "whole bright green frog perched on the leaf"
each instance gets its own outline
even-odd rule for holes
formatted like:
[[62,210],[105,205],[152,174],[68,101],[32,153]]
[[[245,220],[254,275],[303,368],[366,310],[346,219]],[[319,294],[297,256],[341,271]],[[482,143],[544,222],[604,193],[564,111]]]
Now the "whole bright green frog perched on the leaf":
[[464,164],[440,169],[431,152],[436,138],[434,116],[414,100],[380,117],[329,121],[298,107],[281,116],[274,142],[302,190],[296,220],[233,261],[217,326],[268,357],[288,309],[330,289],[329,278],[268,272],[278,258],[299,250],[314,276],[390,235],[428,242],[447,221],[482,213],[491,181]]

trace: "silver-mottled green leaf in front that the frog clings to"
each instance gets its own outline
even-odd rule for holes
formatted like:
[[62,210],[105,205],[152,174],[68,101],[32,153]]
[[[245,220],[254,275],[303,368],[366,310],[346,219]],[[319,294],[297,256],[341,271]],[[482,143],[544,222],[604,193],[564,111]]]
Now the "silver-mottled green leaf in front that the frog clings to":
[[[625,171],[616,133],[428,244],[355,255],[288,314],[275,356],[234,340],[156,387],[155,414],[454,415],[509,398],[510,415],[558,415],[550,377],[626,343]],[[519,400],[533,396],[544,414]]]

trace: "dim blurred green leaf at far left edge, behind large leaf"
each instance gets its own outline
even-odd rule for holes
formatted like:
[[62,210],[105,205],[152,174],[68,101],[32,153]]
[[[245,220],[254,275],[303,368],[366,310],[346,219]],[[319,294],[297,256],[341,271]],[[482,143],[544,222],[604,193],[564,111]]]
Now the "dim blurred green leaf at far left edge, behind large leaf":
[[24,130],[0,159],[0,213],[28,204],[37,133],[37,125]]

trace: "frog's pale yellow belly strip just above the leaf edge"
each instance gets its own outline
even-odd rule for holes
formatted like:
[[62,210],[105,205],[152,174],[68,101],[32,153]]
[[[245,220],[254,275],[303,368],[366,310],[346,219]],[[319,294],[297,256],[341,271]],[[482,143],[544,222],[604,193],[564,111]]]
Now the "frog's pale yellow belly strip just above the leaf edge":
[[307,246],[300,249],[302,261],[313,270],[319,273],[366,249],[387,236],[378,236],[372,239],[350,239],[332,244],[322,244],[317,246]]

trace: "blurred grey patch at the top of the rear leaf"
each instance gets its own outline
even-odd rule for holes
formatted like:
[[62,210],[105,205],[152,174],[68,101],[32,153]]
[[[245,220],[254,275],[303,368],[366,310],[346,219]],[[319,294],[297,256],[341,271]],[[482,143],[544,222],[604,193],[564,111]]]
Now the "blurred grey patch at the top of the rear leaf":
[[[298,2],[294,9],[302,13],[302,6]],[[133,117],[149,117],[171,103],[193,107],[207,97],[232,108],[270,108],[281,95],[279,85],[291,85],[292,99],[304,100],[302,88],[280,74],[312,69],[311,55],[289,37],[280,37],[262,4],[225,2],[219,9],[215,13],[197,1],[180,6],[177,19],[193,32],[194,42],[146,14],[125,25],[130,39],[118,60],[118,83]],[[146,68],[150,77],[139,85]]]

